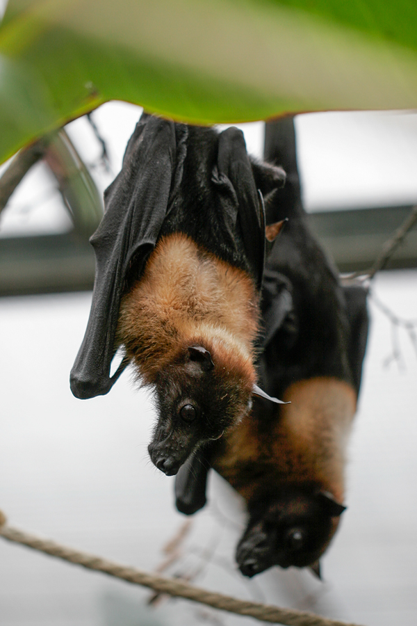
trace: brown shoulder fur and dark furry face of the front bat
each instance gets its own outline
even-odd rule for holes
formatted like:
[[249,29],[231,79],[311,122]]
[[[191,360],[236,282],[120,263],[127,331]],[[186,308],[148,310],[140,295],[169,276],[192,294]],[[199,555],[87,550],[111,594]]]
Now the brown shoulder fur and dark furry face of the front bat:
[[[183,234],[158,242],[142,278],[122,299],[117,341],[142,383],[156,390],[163,421],[149,452],[165,474],[178,469],[173,447],[185,460],[250,410],[258,300],[245,272]],[[204,371],[190,346],[204,346],[213,367]],[[181,419],[183,406],[193,406],[195,419]]]

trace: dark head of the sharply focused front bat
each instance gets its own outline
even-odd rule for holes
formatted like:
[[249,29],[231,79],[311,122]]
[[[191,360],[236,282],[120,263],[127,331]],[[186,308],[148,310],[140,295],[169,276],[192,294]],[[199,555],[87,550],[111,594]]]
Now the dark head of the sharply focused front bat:
[[200,445],[219,439],[250,411],[254,369],[248,358],[224,360],[213,346],[186,346],[155,381],[158,422],[148,450],[167,476]]

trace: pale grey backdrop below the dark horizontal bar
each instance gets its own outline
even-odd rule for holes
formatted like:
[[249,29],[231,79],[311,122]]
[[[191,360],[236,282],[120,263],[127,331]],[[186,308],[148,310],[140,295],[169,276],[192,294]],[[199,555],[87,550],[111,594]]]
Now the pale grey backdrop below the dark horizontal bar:
[[[416,288],[417,271],[385,273],[375,293],[412,318]],[[174,511],[173,479],[147,458],[152,406],[129,376],[108,396],[79,401],[70,393],[89,303],[89,294],[0,300],[0,508],[17,527],[152,569],[184,517]],[[199,568],[195,551],[206,549],[211,561],[195,578],[201,586],[366,626],[417,623],[417,359],[401,332],[404,369],[382,367],[390,324],[371,310],[349,508],[323,559],[325,584],[295,569],[241,577],[233,561],[241,504],[216,476],[211,505],[195,517],[183,556],[167,573]],[[255,623],[184,601],[149,613],[145,597],[149,592],[0,540],[0,626]]]

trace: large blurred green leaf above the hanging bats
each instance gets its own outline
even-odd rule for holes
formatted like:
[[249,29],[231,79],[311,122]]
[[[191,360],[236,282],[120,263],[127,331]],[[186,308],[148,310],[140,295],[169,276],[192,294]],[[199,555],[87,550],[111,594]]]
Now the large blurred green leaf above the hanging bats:
[[174,119],[417,106],[416,0],[10,0],[0,160],[108,99]]

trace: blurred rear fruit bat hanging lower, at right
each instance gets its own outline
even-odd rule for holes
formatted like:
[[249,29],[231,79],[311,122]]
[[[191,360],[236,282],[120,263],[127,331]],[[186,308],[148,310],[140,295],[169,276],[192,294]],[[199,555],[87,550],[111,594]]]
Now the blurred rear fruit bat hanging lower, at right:
[[272,131],[267,158],[283,164],[287,182],[270,219],[288,223],[265,263],[258,368],[266,392],[291,404],[254,399],[250,415],[223,440],[190,456],[175,491],[179,511],[194,513],[206,502],[214,467],[247,504],[236,549],[240,571],[252,577],[272,565],[309,566],[320,577],[320,556],[345,510],[346,446],[368,335],[366,291],[341,286],[309,230],[292,118],[274,122]]

